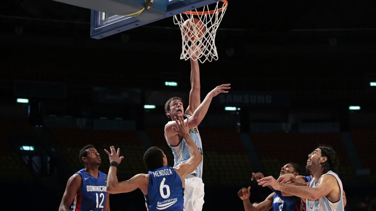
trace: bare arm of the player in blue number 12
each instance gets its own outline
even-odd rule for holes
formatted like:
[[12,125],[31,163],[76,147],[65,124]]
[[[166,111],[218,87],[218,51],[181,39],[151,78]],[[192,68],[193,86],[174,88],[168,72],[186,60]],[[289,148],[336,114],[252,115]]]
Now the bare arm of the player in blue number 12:
[[78,173],[73,174],[66,183],[65,192],[60,202],[59,211],[70,211],[70,206],[79,190],[82,188],[82,178]]

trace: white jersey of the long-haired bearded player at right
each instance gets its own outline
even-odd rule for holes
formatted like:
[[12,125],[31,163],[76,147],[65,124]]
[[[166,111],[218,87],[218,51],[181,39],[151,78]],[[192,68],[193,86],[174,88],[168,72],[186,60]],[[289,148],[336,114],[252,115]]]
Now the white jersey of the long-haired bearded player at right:
[[[340,194],[341,197],[339,198],[338,201],[336,202],[331,202],[327,197],[323,196],[317,200],[309,200],[307,199],[307,204],[306,204],[306,211],[344,211],[344,206],[343,206],[343,186],[342,182],[339,179],[338,175],[332,171],[328,171],[325,174],[331,174],[335,177],[337,180],[339,187],[340,187]],[[323,174],[323,175],[325,175]],[[323,176],[321,175],[321,177]],[[321,178],[320,177],[320,178]],[[319,184],[318,180],[316,182],[316,179],[313,178],[310,187],[316,187]]]

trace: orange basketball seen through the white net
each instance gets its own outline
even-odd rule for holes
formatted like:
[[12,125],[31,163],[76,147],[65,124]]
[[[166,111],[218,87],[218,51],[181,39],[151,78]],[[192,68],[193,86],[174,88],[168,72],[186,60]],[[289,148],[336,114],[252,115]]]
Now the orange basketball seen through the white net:
[[182,32],[186,40],[197,41],[205,34],[205,25],[199,19],[187,19],[182,25]]

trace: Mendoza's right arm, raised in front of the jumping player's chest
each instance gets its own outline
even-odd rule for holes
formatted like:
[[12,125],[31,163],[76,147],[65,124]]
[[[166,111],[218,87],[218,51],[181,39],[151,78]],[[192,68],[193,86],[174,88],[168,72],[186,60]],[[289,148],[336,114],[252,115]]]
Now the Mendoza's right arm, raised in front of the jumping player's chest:
[[189,153],[191,154],[191,157],[187,160],[186,163],[179,164],[175,167],[175,171],[182,178],[182,181],[184,181],[184,177],[188,173],[193,172],[196,169],[196,167],[201,163],[202,155],[198,150],[197,145],[193,142],[192,138],[189,135],[189,121],[185,122],[182,115],[179,115],[179,120],[177,120],[175,117],[175,121],[178,127],[173,127],[173,129],[176,131],[176,133],[180,134],[184,137],[184,139],[186,139],[186,146],[188,148]]

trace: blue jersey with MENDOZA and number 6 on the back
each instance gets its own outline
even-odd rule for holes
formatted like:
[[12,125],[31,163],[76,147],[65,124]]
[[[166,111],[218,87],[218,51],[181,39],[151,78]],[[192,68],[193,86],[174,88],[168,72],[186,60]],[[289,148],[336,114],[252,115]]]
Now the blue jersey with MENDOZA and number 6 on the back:
[[148,211],[183,211],[184,189],[179,174],[172,167],[149,171],[145,196]]

